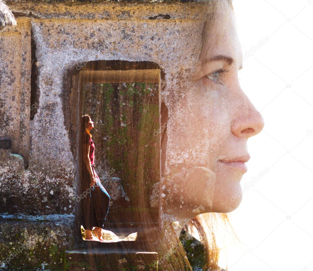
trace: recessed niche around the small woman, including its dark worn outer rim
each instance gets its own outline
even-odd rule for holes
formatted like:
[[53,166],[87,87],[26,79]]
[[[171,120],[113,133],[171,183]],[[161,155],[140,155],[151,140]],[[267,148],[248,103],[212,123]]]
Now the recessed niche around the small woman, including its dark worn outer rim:
[[64,124],[77,166],[80,116],[95,122],[96,171],[111,197],[107,229],[159,227],[162,78],[156,63],[121,60],[77,63],[64,75]]

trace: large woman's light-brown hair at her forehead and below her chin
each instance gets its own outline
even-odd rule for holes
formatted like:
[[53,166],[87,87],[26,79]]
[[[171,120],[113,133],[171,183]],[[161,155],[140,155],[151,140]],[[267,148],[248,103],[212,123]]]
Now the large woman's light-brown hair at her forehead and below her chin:
[[[232,0],[206,0],[204,1],[203,5],[203,13],[199,16],[200,20],[204,22],[201,39],[201,50],[198,55],[198,62],[200,64],[210,59],[210,55],[213,53],[214,48],[221,42],[227,31],[228,25],[230,23],[230,17],[226,15],[228,13],[225,13],[225,9],[230,8],[233,11]],[[219,22],[218,15],[221,13],[225,13],[225,28],[219,28],[219,32],[213,36],[212,30],[216,26],[216,23]],[[218,230],[220,228],[224,228],[226,230],[229,229],[229,232],[232,232],[234,238],[229,240],[229,243],[234,241],[234,239],[238,239],[231,226],[227,213],[203,213],[193,217],[188,222],[188,225],[197,229],[200,241],[204,246],[205,259],[202,270],[219,269],[218,260],[220,256],[220,248],[216,242]],[[163,243],[163,249],[161,253],[164,253],[163,255],[165,255],[167,251],[173,247],[176,248],[176,250],[175,252],[170,253],[170,257],[168,257],[167,262],[165,264],[162,263],[159,266],[159,269],[192,270],[182,243],[178,238],[173,238],[173,236],[175,236],[175,232],[172,228],[172,225],[164,225],[164,228],[166,229],[163,229],[164,232],[162,234],[166,236],[171,235],[171,238],[167,238],[167,244],[166,242]],[[171,231],[172,234],[170,234]],[[162,257],[162,255],[160,256]]]

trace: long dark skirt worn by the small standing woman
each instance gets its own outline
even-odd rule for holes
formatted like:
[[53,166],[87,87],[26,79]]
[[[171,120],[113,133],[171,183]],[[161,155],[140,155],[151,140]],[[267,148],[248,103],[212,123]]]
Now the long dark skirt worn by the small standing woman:
[[[88,179],[88,178],[87,178]],[[110,195],[96,178],[94,187],[83,185],[82,198],[82,226],[85,230],[92,230],[93,227],[104,227],[105,219],[109,213]],[[86,189],[86,187],[88,187]]]

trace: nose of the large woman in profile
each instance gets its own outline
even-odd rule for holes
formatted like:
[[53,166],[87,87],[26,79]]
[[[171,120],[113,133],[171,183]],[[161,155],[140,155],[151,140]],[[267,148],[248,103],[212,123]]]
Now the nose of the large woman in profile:
[[244,103],[240,104],[238,113],[233,114],[232,133],[237,137],[249,138],[259,134],[259,132],[263,130],[264,119],[249,98],[246,95],[244,96]]

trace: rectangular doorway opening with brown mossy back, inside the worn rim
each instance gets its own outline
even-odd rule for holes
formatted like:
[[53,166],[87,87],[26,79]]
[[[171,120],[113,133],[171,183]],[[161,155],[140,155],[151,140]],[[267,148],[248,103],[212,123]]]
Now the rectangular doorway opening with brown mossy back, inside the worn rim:
[[103,236],[108,242],[158,236],[160,72],[84,67],[79,72],[78,117],[89,114],[95,123],[96,172],[111,196]]

